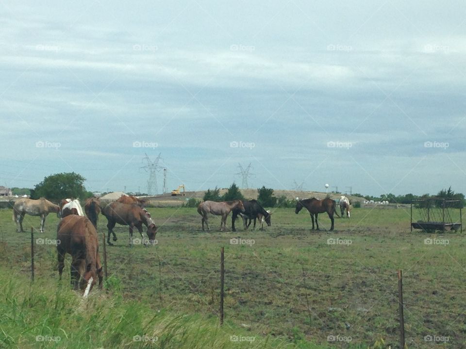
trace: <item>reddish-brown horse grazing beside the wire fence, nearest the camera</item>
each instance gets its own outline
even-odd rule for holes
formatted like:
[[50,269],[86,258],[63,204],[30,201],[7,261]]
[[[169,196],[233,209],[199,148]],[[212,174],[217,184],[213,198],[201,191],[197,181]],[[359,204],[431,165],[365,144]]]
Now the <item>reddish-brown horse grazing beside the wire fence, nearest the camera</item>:
[[71,287],[83,290],[87,284],[91,284],[92,288],[97,278],[99,288],[102,287],[99,238],[96,228],[86,217],[69,215],[58,224],[57,253],[60,280],[65,267],[65,255],[71,254]]

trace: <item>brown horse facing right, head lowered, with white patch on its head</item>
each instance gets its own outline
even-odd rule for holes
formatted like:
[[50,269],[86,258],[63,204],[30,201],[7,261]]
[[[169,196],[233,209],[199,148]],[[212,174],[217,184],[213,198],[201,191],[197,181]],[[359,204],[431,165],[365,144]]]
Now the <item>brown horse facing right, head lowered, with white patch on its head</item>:
[[147,246],[148,240],[144,238],[144,233],[142,231],[142,224],[147,226],[147,236],[149,238],[149,243],[155,245],[155,234],[157,234],[157,227],[155,226],[154,221],[150,217],[150,213],[135,204],[122,204],[119,202],[112,202],[105,206],[101,212],[108,220],[107,228],[107,244],[113,245],[110,243],[110,233],[113,234],[113,240],[116,241],[116,235],[113,231],[115,224],[129,225],[130,227],[130,246],[133,246],[133,228],[136,227],[141,234],[144,246]]

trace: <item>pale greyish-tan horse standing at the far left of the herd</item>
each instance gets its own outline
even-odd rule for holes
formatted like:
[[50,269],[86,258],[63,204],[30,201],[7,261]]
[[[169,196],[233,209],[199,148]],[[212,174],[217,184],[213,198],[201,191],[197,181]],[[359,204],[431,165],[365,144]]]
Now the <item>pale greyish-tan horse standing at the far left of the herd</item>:
[[27,213],[31,216],[40,216],[40,232],[44,232],[45,218],[50,212],[55,212],[60,217],[60,206],[51,203],[46,198],[38,200],[21,198],[13,206],[13,222],[16,222],[16,231],[24,232],[23,219]]

